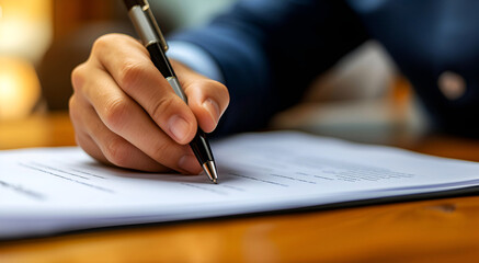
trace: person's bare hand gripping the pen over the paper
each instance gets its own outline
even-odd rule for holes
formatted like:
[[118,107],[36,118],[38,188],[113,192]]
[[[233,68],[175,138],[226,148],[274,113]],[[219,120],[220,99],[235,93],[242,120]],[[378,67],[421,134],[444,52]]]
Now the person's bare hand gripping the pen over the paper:
[[187,145],[210,133],[229,103],[221,83],[171,61],[189,99],[169,85],[136,39],[109,34],[71,73],[70,118],[77,144],[94,159],[151,172],[202,170]]

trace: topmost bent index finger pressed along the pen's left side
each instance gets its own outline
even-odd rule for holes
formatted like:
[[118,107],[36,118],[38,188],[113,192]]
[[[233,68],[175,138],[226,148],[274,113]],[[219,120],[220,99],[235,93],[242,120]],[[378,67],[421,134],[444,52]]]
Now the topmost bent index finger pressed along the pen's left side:
[[140,43],[126,35],[111,34],[99,38],[93,53],[94,59],[164,133],[182,145],[193,139],[196,117],[174,93]]

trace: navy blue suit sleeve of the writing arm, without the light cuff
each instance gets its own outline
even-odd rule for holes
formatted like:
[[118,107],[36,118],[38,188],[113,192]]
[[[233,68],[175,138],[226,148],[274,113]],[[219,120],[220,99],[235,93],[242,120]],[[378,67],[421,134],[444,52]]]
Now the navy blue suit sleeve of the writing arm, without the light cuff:
[[341,0],[246,0],[171,38],[198,45],[220,67],[231,101],[217,133],[229,134],[264,127],[367,37]]

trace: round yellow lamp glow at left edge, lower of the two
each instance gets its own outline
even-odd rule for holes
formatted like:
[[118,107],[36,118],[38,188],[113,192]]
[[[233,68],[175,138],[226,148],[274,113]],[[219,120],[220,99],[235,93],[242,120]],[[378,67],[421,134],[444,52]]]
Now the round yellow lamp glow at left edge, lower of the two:
[[0,119],[27,116],[39,93],[38,78],[32,64],[0,57]]

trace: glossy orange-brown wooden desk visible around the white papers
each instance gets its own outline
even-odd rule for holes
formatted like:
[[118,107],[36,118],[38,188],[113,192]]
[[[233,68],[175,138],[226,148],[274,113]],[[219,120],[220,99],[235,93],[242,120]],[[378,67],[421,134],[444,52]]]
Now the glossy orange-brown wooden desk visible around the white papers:
[[[67,114],[0,123],[0,148],[73,145]],[[479,140],[408,148],[479,161]],[[0,243],[0,262],[471,262],[479,197],[205,219]]]

